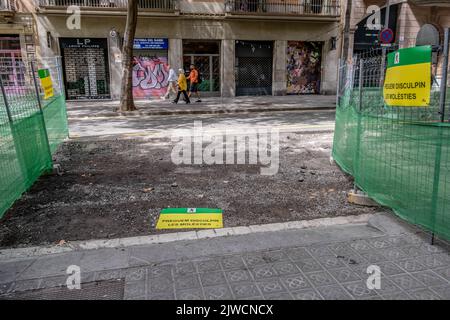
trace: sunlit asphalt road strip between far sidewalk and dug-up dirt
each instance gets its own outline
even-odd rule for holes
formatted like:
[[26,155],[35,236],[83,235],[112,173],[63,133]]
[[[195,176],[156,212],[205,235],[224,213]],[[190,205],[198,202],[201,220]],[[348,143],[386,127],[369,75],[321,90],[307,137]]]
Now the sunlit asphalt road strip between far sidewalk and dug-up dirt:
[[148,136],[170,137],[173,130],[192,129],[201,121],[208,134],[220,130],[246,132],[253,128],[276,128],[280,132],[332,132],[334,110],[303,110],[239,114],[188,114],[178,116],[90,117],[69,119],[71,138]]

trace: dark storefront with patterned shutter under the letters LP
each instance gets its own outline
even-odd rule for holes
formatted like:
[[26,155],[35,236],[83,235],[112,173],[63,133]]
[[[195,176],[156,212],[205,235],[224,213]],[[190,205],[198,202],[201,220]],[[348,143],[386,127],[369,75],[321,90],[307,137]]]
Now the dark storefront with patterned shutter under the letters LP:
[[59,38],[68,100],[109,99],[108,41]]

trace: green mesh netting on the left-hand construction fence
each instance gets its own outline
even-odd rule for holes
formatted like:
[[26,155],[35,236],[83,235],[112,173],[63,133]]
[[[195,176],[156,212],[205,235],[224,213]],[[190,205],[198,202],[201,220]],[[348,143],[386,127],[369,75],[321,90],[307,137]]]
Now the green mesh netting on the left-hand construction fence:
[[11,119],[4,99],[0,99],[0,218],[41,174],[52,168],[51,155],[68,136],[62,95],[43,100],[42,113],[31,90],[20,95],[9,93],[6,98]]

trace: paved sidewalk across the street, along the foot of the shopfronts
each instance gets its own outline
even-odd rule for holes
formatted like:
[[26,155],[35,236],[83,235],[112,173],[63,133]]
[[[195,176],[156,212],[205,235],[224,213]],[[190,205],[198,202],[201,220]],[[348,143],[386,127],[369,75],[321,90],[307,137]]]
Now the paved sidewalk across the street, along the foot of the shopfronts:
[[117,117],[142,115],[180,115],[180,114],[222,114],[264,111],[288,111],[311,109],[334,109],[334,95],[290,95],[290,96],[251,96],[251,97],[207,97],[202,102],[187,105],[180,101],[153,98],[136,100],[137,111],[121,113],[118,101],[71,101],[67,103],[69,119],[83,117]]

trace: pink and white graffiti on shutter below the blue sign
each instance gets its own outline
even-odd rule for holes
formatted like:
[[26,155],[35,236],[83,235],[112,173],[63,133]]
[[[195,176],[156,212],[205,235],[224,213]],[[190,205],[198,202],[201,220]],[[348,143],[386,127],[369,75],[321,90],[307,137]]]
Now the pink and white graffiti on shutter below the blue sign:
[[169,77],[167,57],[133,59],[133,96],[135,98],[163,96],[167,91]]

